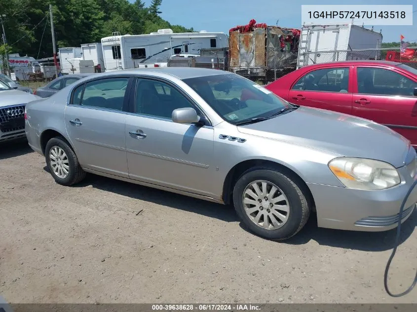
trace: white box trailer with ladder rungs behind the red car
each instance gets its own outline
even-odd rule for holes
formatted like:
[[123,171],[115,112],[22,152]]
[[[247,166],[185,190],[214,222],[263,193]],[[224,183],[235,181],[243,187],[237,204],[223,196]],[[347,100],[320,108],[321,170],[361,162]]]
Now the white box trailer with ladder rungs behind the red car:
[[297,69],[317,63],[378,59],[381,42],[380,32],[354,24],[304,24]]

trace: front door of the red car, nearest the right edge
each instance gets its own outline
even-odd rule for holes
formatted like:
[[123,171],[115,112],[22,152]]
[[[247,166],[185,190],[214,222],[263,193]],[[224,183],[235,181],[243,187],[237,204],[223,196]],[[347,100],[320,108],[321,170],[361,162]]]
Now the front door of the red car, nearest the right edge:
[[352,115],[392,128],[417,146],[417,79],[393,67],[354,68]]

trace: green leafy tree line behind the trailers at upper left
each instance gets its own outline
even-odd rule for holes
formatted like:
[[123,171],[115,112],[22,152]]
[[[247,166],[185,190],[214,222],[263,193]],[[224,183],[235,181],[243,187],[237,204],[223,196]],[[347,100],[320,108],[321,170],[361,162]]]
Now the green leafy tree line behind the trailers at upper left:
[[113,32],[138,35],[165,28],[175,33],[193,32],[192,28],[171,25],[162,19],[161,3],[162,0],[152,0],[147,7],[143,0],[0,0],[0,15],[6,15],[2,20],[7,38],[7,46],[0,46],[0,53],[7,48],[8,53],[50,57],[49,4],[57,48],[100,42]]

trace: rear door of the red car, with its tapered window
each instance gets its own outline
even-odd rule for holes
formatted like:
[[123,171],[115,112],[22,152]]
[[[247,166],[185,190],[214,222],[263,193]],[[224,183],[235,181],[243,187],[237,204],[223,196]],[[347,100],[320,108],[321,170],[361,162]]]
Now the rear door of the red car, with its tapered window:
[[352,66],[312,69],[291,86],[288,101],[351,114],[352,69]]

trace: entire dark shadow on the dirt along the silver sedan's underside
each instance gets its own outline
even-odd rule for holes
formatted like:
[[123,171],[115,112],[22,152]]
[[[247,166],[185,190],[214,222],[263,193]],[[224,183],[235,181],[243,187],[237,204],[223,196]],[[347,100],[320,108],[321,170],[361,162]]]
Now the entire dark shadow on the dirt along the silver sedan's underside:
[[[43,169],[46,172],[49,172],[46,166]],[[157,205],[198,213],[226,222],[240,221],[231,205],[211,203],[95,174],[87,174],[85,180],[73,187],[86,187],[89,185],[103,191],[113,192],[115,194],[151,202]],[[244,231],[250,232],[242,222],[240,222],[240,227]],[[405,242],[410,237],[416,227],[417,210],[415,210],[408,220],[402,224],[401,243]],[[396,234],[395,231],[396,230],[394,229],[386,232],[354,232],[318,228],[317,216],[315,213],[312,213],[310,219],[300,233],[287,241],[276,243],[303,245],[313,240],[320,245],[332,247],[363,251],[383,251],[392,248]]]

